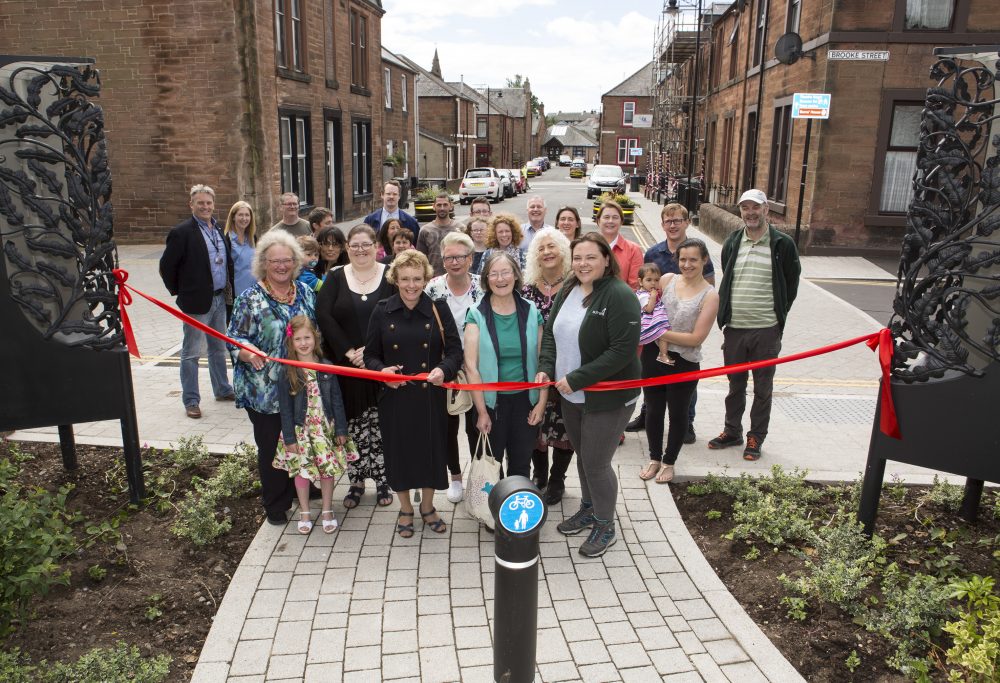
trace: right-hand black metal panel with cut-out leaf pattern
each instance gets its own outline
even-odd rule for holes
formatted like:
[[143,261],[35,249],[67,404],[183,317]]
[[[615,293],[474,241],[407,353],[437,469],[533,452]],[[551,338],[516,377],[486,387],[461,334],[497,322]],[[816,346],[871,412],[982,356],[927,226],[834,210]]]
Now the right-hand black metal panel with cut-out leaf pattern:
[[[1000,361],[997,54],[942,57],[920,126],[890,329],[904,381],[980,376]],[[970,66],[969,64],[975,64]]]

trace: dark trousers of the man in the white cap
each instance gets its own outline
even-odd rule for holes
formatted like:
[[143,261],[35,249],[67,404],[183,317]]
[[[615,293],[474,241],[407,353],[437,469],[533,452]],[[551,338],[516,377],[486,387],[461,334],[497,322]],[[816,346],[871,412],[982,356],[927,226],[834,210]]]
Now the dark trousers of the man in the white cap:
[[[777,325],[758,330],[726,327],[722,331],[722,360],[726,365],[749,363],[777,358],[781,351],[781,328]],[[753,370],[753,404],[750,406],[748,436],[764,441],[771,421],[771,391],[774,387],[774,366]],[[743,411],[747,405],[747,373],[729,375],[726,396],[726,433],[743,435]]]

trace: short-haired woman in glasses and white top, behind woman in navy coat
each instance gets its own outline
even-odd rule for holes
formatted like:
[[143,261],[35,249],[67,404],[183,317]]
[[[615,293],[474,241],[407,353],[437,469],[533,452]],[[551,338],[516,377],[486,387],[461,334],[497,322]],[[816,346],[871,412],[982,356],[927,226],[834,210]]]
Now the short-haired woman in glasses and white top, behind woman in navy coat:
[[[443,300],[448,304],[451,317],[459,332],[465,329],[465,316],[469,309],[479,303],[483,292],[478,278],[469,274],[475,247],[468,235],[449,232],[441,238],[441,256],[444,275],[433,278],[424,291],[434,301]],[[461,337],[460,337],[461,339]],[[472,409],[465,414],[465,435],[469,440],[469,451],[476,450],[476,420],[471,417]],[[448,486],[448,500],[458,503],[464,495],[462,488],[462,463],[458,457],[458,415],[448,415],[448,471],[451,484]]]

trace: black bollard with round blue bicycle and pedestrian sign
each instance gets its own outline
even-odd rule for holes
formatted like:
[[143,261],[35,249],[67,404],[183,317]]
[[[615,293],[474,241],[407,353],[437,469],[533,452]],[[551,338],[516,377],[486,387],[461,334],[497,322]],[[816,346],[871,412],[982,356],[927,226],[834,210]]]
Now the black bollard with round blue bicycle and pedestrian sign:
[[493,680],[535,680],[538,636],[538,532],[545,503],[527,477],[505,477],[490,492],[496,533],[493,594]]

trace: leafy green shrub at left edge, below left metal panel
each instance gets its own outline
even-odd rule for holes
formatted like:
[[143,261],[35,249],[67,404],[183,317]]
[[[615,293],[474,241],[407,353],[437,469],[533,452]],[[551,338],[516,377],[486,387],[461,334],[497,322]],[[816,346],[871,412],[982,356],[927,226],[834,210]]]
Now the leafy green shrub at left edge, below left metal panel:
[[66,510],[70,486],[56,493],[21,485],[24,456],[8,444],[0,459],[0,636],[23,616],[31,601],[69,581],[59,561],[75,548]]

